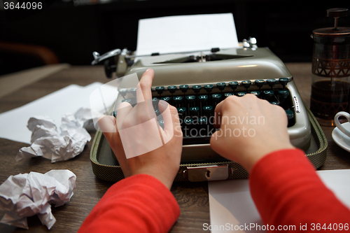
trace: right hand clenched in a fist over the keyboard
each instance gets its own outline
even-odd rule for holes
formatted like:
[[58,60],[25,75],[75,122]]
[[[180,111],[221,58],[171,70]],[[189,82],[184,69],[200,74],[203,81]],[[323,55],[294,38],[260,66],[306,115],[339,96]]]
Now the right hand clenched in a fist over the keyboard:
[[226,98],[216,106],[215,115],[215,126],[220,130],[211,136],[211,148],[228,160],[238,162],[248,172],[265,155],[294,148],[283,108],[253,94]]

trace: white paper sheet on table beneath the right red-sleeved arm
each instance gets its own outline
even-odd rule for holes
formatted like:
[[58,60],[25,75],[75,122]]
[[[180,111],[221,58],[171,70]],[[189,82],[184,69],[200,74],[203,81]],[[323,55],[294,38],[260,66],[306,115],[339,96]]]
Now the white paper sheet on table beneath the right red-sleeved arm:
[[[325,185],[350,209],[350,169],[317,171],[317,173]],[[211,233],[235,232],[235,225],[244,225],[244,223],[264,225],[251,199],[248,179],[211,181],[208,185],[210,224],[203,225],[204,230],[206,227],[209,228],[209,225],[211,225]],[[221,230],[220,226],[223,226]],[[218,230],[215,230],[215,227]],[[251,229],[248,232],[264,231]]]

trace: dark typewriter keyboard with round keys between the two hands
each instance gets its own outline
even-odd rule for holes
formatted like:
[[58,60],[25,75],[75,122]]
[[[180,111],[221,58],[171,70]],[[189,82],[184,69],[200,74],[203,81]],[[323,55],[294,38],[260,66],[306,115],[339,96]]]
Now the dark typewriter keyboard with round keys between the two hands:
[[[206,85],[159,86],[152,88],[152,101],[158,115],[160,115],[158,110],[160,99],[177,108],[183,132],[183,145],[203,144],[209,143],[211,135],[216,131],[213,126],[216,104],[231,95],[243,97],[247,93],[255,94],[260,99],[279,105],[286,111],[288,127],[293,126],[295,124],[294,107],[286,87],[288,82],[288,78],[276,78]],[[119,92],[124,97],[123,101],[129,101],[125,98],[123,90]],[[159,123],[164,127],[163,120],[159,120]]]

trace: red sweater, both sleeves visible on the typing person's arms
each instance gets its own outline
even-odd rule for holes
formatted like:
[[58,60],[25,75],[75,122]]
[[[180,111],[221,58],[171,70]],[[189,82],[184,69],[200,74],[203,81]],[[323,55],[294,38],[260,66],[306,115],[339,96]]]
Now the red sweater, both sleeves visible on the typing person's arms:
[[[315,232],[330,223],[350,229],[349,209],[323,185],[302,150],[263,157],[251,171],[250,186],[262,220],[275,230],[295,225],[295,232],[307,224],[307,230]],[[179,215],[179,205],[165,185],[152,176],[131,176],[109,188],[78,233],[169,232]]]

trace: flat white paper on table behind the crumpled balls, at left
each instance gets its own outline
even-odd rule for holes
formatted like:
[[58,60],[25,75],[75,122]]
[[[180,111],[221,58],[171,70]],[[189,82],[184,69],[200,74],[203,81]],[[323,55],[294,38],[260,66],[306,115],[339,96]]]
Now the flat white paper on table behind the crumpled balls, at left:
[[[15,108],[11,111],[0,114],[0,138],[12,141],[30,143],[31,132],[27,128],[29,118],[35,115],[49,116],[57,127],[61,125],[62,115],[66,113],[76,113],[79,108],[90,108],[90,94],[100,87],[102,83],[92,83],[85,87],[69,85],[61,90],[57,90],[45,97],[32,101],[29,104]],[[111,106],[116,100],[116,87],[106,88],[109,93],[104,93],[106,105]],[[104,110],[101,106],[101,111]]]

